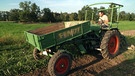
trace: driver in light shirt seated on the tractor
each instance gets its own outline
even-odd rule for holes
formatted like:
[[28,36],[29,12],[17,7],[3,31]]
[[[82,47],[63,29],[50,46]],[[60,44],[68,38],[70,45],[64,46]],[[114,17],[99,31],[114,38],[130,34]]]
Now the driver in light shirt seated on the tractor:
[[101,25],[101,27],[108,27],[108,17],[107,15],[105,15],[105,13],[103,11],[99,12],[99,24]]

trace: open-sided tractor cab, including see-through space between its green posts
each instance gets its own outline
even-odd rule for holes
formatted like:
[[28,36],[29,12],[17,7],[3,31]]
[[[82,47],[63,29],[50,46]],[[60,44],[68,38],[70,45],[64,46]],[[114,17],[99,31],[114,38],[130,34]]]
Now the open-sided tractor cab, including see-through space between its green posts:
[[[97,8],[98,7],[98,8]],[[87,5],[85,8],[85,20],[88,19],[88,8],[93,9],[91,13],[91,25],[98,25],[101,26],[102,29],[113,29],[118,28],[119,23],[119,13],[120,8],[123,5],[116,4],[113,2],[106,2],[106,3],[95,3],[91,5]],[[102,27],[102,23],[99,22],[99,12],[104,12],[105,15],[108,17],[108,27]],[[102,21],[104,22],[104,21]]]

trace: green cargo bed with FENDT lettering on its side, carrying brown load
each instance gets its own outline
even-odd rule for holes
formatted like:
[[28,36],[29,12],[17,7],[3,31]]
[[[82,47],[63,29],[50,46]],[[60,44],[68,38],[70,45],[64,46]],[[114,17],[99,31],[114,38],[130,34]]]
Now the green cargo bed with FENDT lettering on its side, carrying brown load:
[[72,40],[91,30],[90,21],[70,21],[25,32],[27,41],[39,50]]

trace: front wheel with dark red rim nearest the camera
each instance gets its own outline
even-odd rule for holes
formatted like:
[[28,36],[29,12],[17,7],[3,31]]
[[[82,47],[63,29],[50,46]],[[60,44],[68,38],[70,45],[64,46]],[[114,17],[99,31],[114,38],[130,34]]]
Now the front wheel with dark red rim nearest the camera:
[[48,63],[48,72],[51,76],[66,76],[72,64],[70,54],[65,51],[55,53]]

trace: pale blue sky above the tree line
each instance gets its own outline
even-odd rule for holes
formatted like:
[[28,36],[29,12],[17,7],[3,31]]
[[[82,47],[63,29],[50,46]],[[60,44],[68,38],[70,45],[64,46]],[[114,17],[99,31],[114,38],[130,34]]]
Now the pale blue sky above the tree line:
[[[10,11],[10,9],[18,9],[19,3],[31,1],[36,3],[40,9],[50,8],[53,12],[78,12],[85,5],[99,2],[114,2],[124,5],[121,11],[135,13],[135,0],[1,0],[0,11]],[[103,5],[102,5],[103,6]]]

